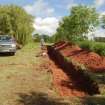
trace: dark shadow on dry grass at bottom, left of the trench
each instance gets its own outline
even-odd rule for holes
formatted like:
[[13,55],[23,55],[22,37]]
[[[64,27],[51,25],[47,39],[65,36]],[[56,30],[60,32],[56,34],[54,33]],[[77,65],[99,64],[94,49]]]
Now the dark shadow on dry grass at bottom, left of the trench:
[[63,99],[53,99],[46,93],[31,92],[30,94],[19,93],[19,103],[23,105],[70,105]]

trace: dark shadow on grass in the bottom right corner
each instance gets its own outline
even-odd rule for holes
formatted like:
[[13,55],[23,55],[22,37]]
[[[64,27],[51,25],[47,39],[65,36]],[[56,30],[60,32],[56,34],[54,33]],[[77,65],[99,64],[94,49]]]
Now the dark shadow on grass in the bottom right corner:
[[105,97],[93,96],[82,99],[82,105],[105,105]]

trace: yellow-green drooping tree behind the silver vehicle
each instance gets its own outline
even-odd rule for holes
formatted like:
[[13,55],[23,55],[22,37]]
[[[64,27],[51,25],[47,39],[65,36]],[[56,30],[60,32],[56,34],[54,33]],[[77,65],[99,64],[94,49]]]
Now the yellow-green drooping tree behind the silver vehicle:
[[0,6],[0,34],[13,35],[17,42],[26,44],[33,32],[33,17],[18,6]]

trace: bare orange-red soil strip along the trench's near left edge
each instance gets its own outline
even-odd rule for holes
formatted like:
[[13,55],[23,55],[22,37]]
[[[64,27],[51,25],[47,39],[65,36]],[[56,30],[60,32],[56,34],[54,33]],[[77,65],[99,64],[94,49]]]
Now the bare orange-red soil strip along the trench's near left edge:
[[54,62],[50,61],[50,68],[53,73],[53,84],[58,90],[61,96],[78,96],[83,97],[87,94],[75,86],[70,76],[59,67],[57,67]]

